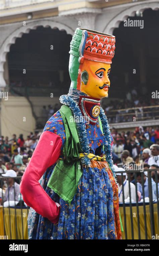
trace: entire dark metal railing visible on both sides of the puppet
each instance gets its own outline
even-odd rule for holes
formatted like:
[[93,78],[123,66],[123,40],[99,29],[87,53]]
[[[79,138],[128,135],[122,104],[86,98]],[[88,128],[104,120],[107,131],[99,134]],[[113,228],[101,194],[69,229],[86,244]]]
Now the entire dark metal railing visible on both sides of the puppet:
[[[159,230],[159,191],[158,191],[158,173],[159,169],[151,169],[151,170],[146,170],[148,173],[148,187],[149,187],[149,202],[145,201],[145,190],[144,190],[144,172],[141,171],[120,171],[117,173],[120,173],[121,175],[121,185],[122,185],[122,203],[119,203],[119,208],[120,211],[122,210],[122,221],[123,221],[123,228],[124,228],[124,238],[125,239],[136,239],[135,238],[135,232],[134,231],[134,207],[136,208],[137,212],[137,232],[138,232],[138,239],[151,239],[153,235],[156,235],[156,230]],[[153,198],[153,189],[152,189],[152,177],[151,177],[151,172],[155,172],[155,183],[156,183],[156,199],[154,200]],[[124,194],[124,179],[125,179],[125,174],[123,173],[126,172],[127,175],[127,181],[128,181],[128,188],[129,188],[129,202],[125,202],[125,194]],[[130,188],[130,182],[131,182],[131,174],[132,172],[134,173],[134,180],[135,180],[135,197],[136,197],[136,202],[133,202],[132,200],[132,195],[131,195],[131,188]],[[138,197],[138,191],[137,191],[137,175],[138,173],[141,172],[141,184],[142,184],[142,189],[143,189],[143,202],[139,201]],[[20,183],[21,181],[21,176],[18,176],[16,178],[13,178],[15,182]],[[1,188],[3,189],[4,187],[4,180],[7,182],[5,183],[6,189],[9,191],[9,184],[8,184],[8,178],[6,177],[0,177],[0,185]],[[132,185],[131,185],[132,186]],[[3,225],[0,225],[0,239],[4,239],[3,237],[9,237],[9,239],[28,239],[28,228],[27,228],[27,216],[29,214],[29,207],[24,205],[23,199],[21,194],[19,194],[19,202],[17,204],[16,202],[16,191],[15,191],[15,186],[13,185],[14,189],[14,203],[10,205],[10,200],[9,200],[9,193],[8,193],[8,207],[4,207],[5,205],[5,195],[2,192],[2,198],[1,198],[1,206],[0,206],[0,219],[2,223],[3,219]],[[157,215],[154,215],[154,206],[157,206]],[[147,209],[149,210],[147,211]],[[129,216],[127,215],[127,209],[129,210]],[[18,216],[17,216],[17,211],[18,211]],[[24,211],[25,214],[27,213],[27,216],[23,218],[24,216]],[[140,212],[143,213],[144,218],[140,218]],[[147,217],[147,214],[149,217]],[[157,221],[156,221],[156,216],[157,216]],[[17,218],[18,217],[18,218]],[[9,220],[9,221],[8,221]],[[142,226],[144,226],[144,232],[141,230],[141,221]],[[130,227],[127,228],[127,222],[130,223]],[[21,224],[20,224],[21,223]],[[156,224],[157,223],[157,224]],[[20,224],[20,225],[19,225]],[[155,225],[158,225],[156,227]],[[3,227],[2,227],[3,226]],[[150,234],[148,235],[148,226],[151,226],[151,236]],[[14,231],[14,232],[13,232]],[[128,232],[131,232],[131,237],[130,235],[128,236]],[[158,231],[157,231],[158,232]],[[14,233],[14,234],[13,234]],[[20,233],[20,234],[19,234]]]

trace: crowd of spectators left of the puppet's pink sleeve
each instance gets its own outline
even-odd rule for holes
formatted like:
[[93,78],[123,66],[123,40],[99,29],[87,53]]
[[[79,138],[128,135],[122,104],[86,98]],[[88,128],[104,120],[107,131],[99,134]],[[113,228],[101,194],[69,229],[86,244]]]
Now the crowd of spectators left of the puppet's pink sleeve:
[[[41,133],[31,132],[27,139],[24,140],[20,134],[17,138],[16,134],[12,138],[4,136],[0,137],[0,203],[5,207],[14,206],[22,201],[19,190],[20,179],[36,148]],[[8,178],[9,177],[9,178]],[[3,202],[2,202],[3,201]]]

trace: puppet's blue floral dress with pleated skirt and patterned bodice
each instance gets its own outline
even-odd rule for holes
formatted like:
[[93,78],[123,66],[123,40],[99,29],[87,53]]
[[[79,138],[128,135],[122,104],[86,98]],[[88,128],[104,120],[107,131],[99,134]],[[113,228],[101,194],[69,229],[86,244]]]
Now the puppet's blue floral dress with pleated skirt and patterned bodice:
[[[106,139],[99,123],[86,126],[91,151],[102,156]],[[50,131],[65,142],[65,130],[60,112],[57,111],[46,123],[44,132]],[[61,148],[61,150],[62,150]],[[62,155],[60,156],[62,157]],[[113,188],[108,168],[94,162],[91,167],[83,167],[83,174],[78,182],[76,194],[68,205],[48,186],[48,180],[54,170],[49,167],[40,180],[41,186],[52,200],[61,206],[59,222],[51,223],[30,208],[28,216],[29,239],[116,239]]]

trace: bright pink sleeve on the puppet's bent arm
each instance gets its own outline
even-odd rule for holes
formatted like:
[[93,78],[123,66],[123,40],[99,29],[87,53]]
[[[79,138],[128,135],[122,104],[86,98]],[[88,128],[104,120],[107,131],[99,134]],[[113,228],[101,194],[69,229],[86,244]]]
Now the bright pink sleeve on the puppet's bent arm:
[[59,135],[49,131],[43,132],[20,182],[20,193],[24,202],[52,223],[58,222],[60,208],[41,187],[38,180],[49,166],[56,163],[61,153],[61,146],[62,139]]

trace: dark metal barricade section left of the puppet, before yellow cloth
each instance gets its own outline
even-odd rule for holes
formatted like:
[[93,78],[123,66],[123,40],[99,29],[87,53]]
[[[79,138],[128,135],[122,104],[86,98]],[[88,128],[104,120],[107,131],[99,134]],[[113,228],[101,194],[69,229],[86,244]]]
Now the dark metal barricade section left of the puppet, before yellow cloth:
[[[11,186],[9,185],[9,179],[14,180],[13,185]],[[21,176],[17,176],[15,178],[0,176],[0,188],[2,189],[0,218],[1,220],[3,220],[3,227],[0,226],[0,239],[26,239],[24,237],[23,209],[27,209],[27,216],[25,216],[26,217],[25,224],[26,224],[27,217],[29,214],[29,207],[24,205],[22,195],[20,194],[19,189],[15,190],[15,184],[16,184],[16,188],[18,188],[20,181],[21,181]],[[5,187],[5,193],[4,193],[4,187]],[[12,189],[12,192],[11,192],[11,189]],[[21,219],[20,230],[19,230],[19,223],[18,223],[19,218],[17,219],[17,211],[18,211],[18,214],[20,212],[20,219]],[[9,223],[8,223],[8,214],[9,214]],[[14,219],[14,223],[12,223],[13,219]],[[6,223],[7,223],[7,227],[6,227]],[[13,230],[15,233],[14,237],[12,237]],[[20,233],[20,236],[19,236],[19,233]]]

